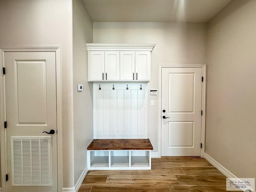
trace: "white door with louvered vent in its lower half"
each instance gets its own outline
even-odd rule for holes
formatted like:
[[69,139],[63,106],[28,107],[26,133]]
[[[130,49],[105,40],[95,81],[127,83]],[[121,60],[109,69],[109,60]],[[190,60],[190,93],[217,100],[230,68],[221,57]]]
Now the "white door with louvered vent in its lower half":
[[5,52],[8,192],[57,192],[55,52]]

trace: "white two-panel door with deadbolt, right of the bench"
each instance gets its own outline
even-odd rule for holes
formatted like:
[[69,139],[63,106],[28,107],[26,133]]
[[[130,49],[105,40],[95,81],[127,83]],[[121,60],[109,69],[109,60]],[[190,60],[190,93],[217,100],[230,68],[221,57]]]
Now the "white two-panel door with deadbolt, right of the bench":
[[162,156],[200,156],[202,68],[162,68]]

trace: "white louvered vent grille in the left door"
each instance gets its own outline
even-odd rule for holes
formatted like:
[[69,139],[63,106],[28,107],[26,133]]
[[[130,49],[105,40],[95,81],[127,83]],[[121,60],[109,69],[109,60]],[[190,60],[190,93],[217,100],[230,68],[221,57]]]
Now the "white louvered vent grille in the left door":
[[12,186],[51,186],[51,137],[11,137]]

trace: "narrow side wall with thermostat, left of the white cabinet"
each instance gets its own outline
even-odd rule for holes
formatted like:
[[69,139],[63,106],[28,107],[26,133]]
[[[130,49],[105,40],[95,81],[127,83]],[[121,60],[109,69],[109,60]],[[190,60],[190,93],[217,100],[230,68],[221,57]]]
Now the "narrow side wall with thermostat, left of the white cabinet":
[[[92,42],[92,20],[82,0],[73,0],[74,183],[87,166],[86,148],[93,139],[92,83],[88,82],[86,43]],[[78,92],[77,84],[84,85]]]

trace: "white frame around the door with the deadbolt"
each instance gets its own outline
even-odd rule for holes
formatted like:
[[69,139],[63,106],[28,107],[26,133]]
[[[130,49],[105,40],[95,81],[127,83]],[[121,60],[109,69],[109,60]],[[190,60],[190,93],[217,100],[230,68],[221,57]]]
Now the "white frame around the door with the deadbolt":
[[162,68],[181,68],[181,67],[201,67],[204,81],[202,82],[202,121],[201,121],[201,158],[204,158],[204,145],[205,145],[205,109],[206,109],[206,64],[159,64],[158,67],[158,157],[161,157],[161,130],[162,130]]

